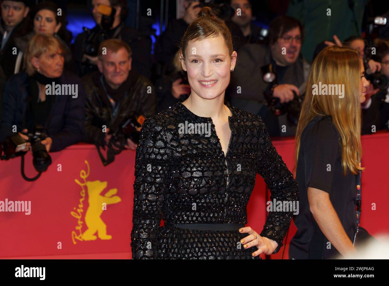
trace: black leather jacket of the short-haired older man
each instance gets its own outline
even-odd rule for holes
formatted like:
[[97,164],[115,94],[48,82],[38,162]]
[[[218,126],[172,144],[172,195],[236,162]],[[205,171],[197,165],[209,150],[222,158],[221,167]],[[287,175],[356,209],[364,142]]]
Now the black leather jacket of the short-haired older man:
[[[86,119],[85,119],[85,138],[84,141],[104,146],[104,135],[102,126],[116,129],[125,118],[133,116],[135,112],[144,117],[150,117],[155,114],[156,95],[154,86],[146,77],[130,70],[128,80],[131,81],[131,88],[126,97],[121,102],[116,116],[113,117],[113,108],[109,98],[104,91],[100,72],[92,72],[82,77],[86,93]],[[148,88],[148,87],[151,88]],[[151,93],[148,93],[148,90]]]

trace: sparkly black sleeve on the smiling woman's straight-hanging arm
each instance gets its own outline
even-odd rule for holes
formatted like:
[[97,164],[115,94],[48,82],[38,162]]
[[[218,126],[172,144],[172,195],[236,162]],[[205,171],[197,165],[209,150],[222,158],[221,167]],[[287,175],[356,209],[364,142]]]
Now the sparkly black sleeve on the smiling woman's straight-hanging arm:
[[140,134],[135,159],[134,206],[131,231],[133,259],[158,258],[158,231],[165,186],[170,174],[166,132],[147,118]]

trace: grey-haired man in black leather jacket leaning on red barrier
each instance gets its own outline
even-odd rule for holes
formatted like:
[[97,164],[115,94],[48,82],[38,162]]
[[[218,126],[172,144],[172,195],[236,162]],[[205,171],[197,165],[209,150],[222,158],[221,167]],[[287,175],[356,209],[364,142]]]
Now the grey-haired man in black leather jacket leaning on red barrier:
[[[103,54],[103,47],[107,53]],[[86,91],[85,141],[106,146],[119,125],[141,114],[155,114],[156,95],[151,81],[131,70],[131,48],[117,39],[100,44],[98,71],[82,78]],[[103,125],[107,126],[103,132]],[[124,148],[135,150],[137,145],[127,139]],[[115,149],[115,147],[114,147]],[[116,148],[117,149],[117,148]]]

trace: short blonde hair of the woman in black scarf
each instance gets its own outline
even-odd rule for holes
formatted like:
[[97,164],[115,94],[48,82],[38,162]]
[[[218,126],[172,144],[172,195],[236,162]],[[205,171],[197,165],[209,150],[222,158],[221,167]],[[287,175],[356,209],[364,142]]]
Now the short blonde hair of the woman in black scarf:
[[27,44],[23,68],[28,75],[35,74],[37,69],[32,64],[32,58],[39,58],[46,52],[56,52],[58,49],[65,54],[65,50],[61,43],[54,36],[48,34],[35,34]]

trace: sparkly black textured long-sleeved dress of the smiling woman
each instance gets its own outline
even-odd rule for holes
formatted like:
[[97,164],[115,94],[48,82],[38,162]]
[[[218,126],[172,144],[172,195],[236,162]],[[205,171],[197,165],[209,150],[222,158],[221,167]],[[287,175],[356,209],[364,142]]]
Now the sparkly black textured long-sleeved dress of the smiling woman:
[[[256,246],[239,247],[247,233],[174,225],[247,224],[246,207],[257,173],[265,179],[272,201],[298,200],[297,182],[262,119],[229,108],[231,139],[226,156],[212,119],[195,115],[180,102],[144,121],[135,160],[133,259],[259,259],[251,256]],[[180,132],[180,123],[186,121],[187,126],[209,123],[210,132]],[[273,253],[282,246],[292,216],[293,211],[270,212],[266,219],[260,235],[278,243]]]

